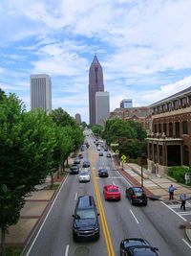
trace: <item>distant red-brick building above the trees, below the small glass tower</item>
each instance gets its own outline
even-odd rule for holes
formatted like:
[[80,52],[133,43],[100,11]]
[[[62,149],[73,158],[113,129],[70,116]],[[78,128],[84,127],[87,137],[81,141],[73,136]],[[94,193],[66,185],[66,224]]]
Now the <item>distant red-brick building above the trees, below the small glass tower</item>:
[[151,110],[148,106],[116,108],[110,113],[110,118],[119,118],[124,121],[134,120],[149,131],[151,123]]

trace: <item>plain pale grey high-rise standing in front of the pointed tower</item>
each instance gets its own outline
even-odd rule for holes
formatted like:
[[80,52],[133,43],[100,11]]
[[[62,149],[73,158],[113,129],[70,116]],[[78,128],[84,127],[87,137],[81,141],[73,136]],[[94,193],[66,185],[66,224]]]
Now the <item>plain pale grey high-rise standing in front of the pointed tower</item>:
[[96,124],[104,126],[110,116],[109,92],[96,92]]

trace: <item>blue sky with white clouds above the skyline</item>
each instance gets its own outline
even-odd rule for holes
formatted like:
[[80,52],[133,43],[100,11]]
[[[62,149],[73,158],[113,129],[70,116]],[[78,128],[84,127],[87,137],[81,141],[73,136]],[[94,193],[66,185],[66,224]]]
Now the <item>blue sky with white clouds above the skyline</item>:
[[103,68],[110,111],[191,86],[190,0],[1,0],[0,88],[31,109],[30,76],[52,78],[53,109],[89,124],[89,68]]

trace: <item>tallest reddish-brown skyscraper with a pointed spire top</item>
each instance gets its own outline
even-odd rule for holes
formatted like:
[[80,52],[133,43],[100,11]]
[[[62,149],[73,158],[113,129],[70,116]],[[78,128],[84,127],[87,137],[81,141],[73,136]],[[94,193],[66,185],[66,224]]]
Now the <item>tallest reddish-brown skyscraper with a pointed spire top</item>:
[[95,55],[89,70],[89,117],[90,125],[96,124],[96,92],[104,91],[102,67]]

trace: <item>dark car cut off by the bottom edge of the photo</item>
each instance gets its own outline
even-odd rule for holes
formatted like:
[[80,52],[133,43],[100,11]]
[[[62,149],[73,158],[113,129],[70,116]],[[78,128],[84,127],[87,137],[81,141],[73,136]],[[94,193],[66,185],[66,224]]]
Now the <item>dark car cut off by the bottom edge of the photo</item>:
[[120,243],[120,256],[158,256],[158,250],[142,238],[124,239]]

